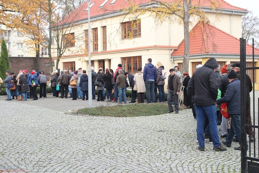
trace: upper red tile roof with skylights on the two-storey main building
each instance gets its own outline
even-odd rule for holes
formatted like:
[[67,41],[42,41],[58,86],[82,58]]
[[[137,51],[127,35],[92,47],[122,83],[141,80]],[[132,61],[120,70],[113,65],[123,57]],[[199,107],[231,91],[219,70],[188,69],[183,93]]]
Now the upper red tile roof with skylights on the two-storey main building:
[[[121,9],[125,9],[129,6],[130,2],[134,2],[138,5],[147,4],[150,2],[150,0],[116,0],[113,4],[110,4],[113,0],[108,0],[103,7],[99,7],[105,0],[92,0],[91,4],[94,4],[90,8],[90,15],[91,17],[94,16],[105,16],[114,12],[119,12]],[[157,0],[159,1],[159,0]],[[179,1],[179,0],[161,0],[161,2],[172,2],[172,1]],[[237,10],[237,11],[247,11],[246,9],[242,9],[239,7],[235,7],[233,5],[228,4],[227,2],[223,0],[218,0],[219,2],[219,8],[220,9],[228,9],[228,10]],[[180,1],[182,3],[182,1]],[[200,3],[203,7],[210,8],[211,0],[192,0],[192,5],[197,5]],[[71,14],[69,14],[65,19],[64,23],[68,23],[71,21],[79,21],[83,19],[88,18],[88,4],[87,2],[84,2],[82,5],[80,5],[77,9],[75,9]]]

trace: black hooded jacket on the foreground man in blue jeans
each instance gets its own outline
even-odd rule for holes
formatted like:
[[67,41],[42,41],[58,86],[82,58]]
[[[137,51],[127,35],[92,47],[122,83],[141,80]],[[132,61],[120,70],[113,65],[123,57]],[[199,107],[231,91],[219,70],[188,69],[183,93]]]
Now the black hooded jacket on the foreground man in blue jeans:
[[196,106],[215,105],[218,96],[218,81],[214,69],[218,67],[215,58],[210,58],[197,69],[188,83],[188,90],[194,96]]

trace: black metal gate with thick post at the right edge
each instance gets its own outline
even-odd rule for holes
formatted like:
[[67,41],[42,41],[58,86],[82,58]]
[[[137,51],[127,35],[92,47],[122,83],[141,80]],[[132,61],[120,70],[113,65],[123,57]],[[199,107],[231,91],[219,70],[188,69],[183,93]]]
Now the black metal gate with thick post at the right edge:
[[[259,103],[259,98],[255,98],[254,92],[254,81],[255,81],[255,72],[259,70],[259,67],[254,66],[254,39],[253,39],[253,63],[252,67],[246,67],[246,40],[240,38],[240,89],[241,89],[241,172],[242,173],[258,173],[259,172],[259,120],[258,120],[258,110],[257,114],[255,114],[255,105]],[[252,100],[250,97],[247,98],[246,95],[246,74],[247,70],[252,70],[253,74],[253,90],[250,92],[250,96],[252,95]],[[247,104],[247,99],[249,99]],[[253,107],[251,108],[251,103],[253,103]],[[250,112],[252,121],[250,124],[247,124],[247,107]],[[257,121],[255,121],[257,119]],[[253,142],[247,141],[247,127],[251,127],[254,131],[254,137],[256,140]],[[249,128],[250,131],[250,128]],[[249,132],[250,133],[250,132]],[[248,143],[248,150],[247,148]]]

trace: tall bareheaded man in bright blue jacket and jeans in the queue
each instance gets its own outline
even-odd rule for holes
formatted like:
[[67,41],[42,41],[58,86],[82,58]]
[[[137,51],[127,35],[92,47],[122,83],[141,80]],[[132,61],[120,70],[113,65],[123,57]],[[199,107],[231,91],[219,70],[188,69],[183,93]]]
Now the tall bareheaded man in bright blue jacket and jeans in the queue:
[[147,93],[147,103],[155,102],[155,80],[157,78],[157,69],[151,63],[152,59],[147,59],[147,65],[145,65],[143,70],[143,79],[145,82],[146,93]]

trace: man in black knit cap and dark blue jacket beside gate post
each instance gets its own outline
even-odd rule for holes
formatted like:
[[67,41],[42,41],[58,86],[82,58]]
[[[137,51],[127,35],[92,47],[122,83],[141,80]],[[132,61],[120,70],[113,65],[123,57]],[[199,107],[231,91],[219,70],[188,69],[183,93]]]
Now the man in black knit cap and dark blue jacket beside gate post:
[[[236,134],[239,142],[239,147],[235,147],[235,150],[241,150],[241,122],[240,122],[240,80],[237,78],[237,73],[231,70],[227,76],[230,84],[228,84],[224,97],[216,101],[217,104],[227,103],[228,113],[231,117],[231,127],[226,141],[222,143],[227,147],[231,146],[232,139]],[[248,145],[247,145],[248,149]]]

